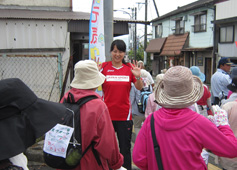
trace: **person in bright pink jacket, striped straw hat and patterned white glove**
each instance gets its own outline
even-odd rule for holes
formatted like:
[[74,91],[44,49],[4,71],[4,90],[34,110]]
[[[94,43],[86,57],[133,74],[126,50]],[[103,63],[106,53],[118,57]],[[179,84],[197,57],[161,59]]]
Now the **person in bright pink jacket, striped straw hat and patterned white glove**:
[[141,170],[157,170],[150,121],[154,127],[164,170],[207,170],[203,148],[223,157],[237,157],[237,139],[227,113],[215,107],[206,117],[188,107],[203,95],[201,80],[184,66],[171,67],[155,89],[161,109],[145,120],[134,144],[133,162]]

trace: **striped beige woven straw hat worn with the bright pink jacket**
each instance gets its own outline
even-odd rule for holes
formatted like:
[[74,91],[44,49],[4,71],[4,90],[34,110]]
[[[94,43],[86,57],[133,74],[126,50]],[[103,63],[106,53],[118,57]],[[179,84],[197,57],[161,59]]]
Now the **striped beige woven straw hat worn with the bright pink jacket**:
[[155,99],[165,108],[185,108],[197,102],[203,95],[201,80],[184,66],[167,70],[155,89]]

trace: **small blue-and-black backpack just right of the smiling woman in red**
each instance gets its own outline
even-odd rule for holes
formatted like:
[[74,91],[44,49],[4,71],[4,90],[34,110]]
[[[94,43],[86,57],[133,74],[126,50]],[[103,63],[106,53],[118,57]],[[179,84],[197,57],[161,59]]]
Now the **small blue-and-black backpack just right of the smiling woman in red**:
[[152,93],[151,92],[151,89],[150,89],[150,85],[149,85],[149,88],[148,90],[144,90],[142,89],[140,92],[140,97],[139,97],[139,100],[137,102],[137,106],[138,106],[138,111],[140,113],[145,113],[146,111],[146,106],[147,106],[147,100],[148,100],[148,97],[149,95]]

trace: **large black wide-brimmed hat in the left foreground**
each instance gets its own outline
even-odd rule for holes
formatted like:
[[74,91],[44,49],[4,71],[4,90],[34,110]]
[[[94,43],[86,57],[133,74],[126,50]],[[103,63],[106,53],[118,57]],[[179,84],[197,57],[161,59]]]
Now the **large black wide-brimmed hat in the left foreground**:
[[63,104],[38,98],[20,79],[0,80],[0,160],[24,152],[70,116]]

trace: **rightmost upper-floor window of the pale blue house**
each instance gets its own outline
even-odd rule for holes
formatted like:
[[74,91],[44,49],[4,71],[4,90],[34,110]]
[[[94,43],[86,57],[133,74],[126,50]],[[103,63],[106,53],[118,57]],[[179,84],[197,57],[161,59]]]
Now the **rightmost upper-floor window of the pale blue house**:
[[207,14],[200,14],[194,16],[194,32],[207,31]]

